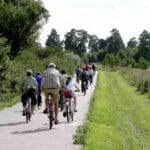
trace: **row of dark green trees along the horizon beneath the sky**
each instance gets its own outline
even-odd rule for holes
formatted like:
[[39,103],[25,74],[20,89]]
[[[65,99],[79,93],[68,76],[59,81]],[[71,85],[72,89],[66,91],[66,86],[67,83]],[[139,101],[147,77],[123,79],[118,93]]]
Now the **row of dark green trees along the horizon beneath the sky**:
[[84,62],[101,62],[105,65],[121,65],[147,68],[150,61],[150,32],[143,30],[139,38],[132,37],[125,46],[119,31],[114,28],[106,39],[88,34],[85,30],[71,29],[60,40],[56,29],[52,29],[47,47],[61,47],[79,55]]

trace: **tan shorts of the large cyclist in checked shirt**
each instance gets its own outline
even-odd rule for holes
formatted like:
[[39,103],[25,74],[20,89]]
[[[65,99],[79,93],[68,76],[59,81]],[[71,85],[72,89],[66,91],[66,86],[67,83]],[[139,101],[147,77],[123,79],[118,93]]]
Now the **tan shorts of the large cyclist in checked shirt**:
[[52,100],[57,103],[59,101],[59,89],[44,89],[45,100],[48,102],[49,94],[51,94]]

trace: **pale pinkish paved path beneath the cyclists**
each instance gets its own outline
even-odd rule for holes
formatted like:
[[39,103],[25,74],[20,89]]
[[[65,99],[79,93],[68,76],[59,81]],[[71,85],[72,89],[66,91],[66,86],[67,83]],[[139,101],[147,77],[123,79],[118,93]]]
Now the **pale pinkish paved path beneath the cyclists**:
[[81,145],[73,144],[73,134],[88,112],[97,74],[85,96],[81,92],[76,93],[78,112],[71,123],[67,123],[62,112],[59,112],[60,123],[49,130],[48,117],[42,113],[44,103],[42,108],[35,111],[29,123],[22,116],[21,103],[0,111],[0,150],[80,150]]

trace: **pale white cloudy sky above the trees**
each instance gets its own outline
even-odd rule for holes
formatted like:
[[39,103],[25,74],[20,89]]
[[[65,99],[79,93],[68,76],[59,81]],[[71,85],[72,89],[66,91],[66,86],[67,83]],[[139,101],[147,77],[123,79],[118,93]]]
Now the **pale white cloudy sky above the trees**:
[[124,43],[150,32],[149,0],[41,0],[50,18],[41,29],[39,42],[44,46],[56,29],[61,39],[71,29],[83,29],[90,35],[106,39],[116,28]]

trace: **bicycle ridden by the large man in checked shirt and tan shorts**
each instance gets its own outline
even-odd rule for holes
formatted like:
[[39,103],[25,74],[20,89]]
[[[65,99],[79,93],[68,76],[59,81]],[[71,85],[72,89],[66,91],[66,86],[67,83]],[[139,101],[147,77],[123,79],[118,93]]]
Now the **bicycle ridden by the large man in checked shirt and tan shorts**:
[[49,102],[48,102],[48,118],[49,118],[49,129],[52,129],[54,121],[54,102],[51,98],[51,93],[49,93]]

